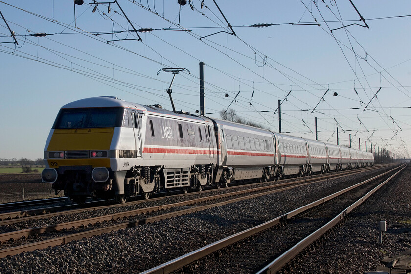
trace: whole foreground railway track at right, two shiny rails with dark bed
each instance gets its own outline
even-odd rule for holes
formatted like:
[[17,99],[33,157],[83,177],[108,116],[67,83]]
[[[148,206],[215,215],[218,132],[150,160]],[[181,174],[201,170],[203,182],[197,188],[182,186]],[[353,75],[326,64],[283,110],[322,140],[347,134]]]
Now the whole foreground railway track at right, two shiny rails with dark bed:
[[[384,172],[142,274],[206,273],[210,269],[277,273],[301,251],[309,253],[310,245],[404,168]],[[292,272],[292,266],[288,271]]]

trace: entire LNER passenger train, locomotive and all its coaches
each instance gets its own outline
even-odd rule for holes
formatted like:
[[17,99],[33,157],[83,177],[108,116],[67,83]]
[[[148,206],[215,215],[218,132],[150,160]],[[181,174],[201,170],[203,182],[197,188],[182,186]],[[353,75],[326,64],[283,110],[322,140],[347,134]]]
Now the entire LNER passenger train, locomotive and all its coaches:
[[84,203],[201,191],[374,164],[372,153],[140,105],[112,96],[64,105],[44,148],[42,181]]

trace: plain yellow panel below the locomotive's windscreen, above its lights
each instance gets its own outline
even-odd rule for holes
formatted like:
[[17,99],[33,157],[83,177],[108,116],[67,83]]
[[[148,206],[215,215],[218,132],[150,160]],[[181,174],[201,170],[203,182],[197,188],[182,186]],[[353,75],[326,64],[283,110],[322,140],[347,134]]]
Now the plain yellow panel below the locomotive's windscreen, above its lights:
[[114,128],[56,129],[47,151],[109,150]]

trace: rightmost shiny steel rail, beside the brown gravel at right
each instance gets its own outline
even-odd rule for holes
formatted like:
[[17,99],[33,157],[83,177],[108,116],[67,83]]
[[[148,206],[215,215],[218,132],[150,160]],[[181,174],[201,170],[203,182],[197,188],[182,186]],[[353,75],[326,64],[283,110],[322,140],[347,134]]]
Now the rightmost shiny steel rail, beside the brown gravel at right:
[[326,223],[324,226],[322,226],[321,228],[317,229],[316,231],[314,231],[313,233],[311,233],[310,235],[308,235],[307,237],[299,241],[296,245],[294,245],[289,250],[285,251],[283,254],[281,254],[279,257],[277,257],[274,261],[269,263],[267,266],[265,266],[263,269],[261,269],[256,274],[262,274],[262,273],[274,274],[278,272],[288,262],[290,262],[293,258],[295,258],[301,251],[309,247],[312,243],[314,243],[322,235],[324,235],[328,230],[336,226],[348,213],[354,210],[357,206],[360,206],[366,199],[368,199],[372,194],[374,194],[383,185],[388,183],[392,178],[394,178],[398,173],[403,171],[404,168],[406,167],[407,167],[407,164],[405,164],[405,166],[399,171],[397,171],[395,174],[391,175],[383,183],[380,183],[379,185],[374,187],[371,191],[366,193],[363,197],[358,199],[351,206],[348,206],[346,209],[344,209],[340,214],[338,214],[336,217],[334,217],[331,221]]

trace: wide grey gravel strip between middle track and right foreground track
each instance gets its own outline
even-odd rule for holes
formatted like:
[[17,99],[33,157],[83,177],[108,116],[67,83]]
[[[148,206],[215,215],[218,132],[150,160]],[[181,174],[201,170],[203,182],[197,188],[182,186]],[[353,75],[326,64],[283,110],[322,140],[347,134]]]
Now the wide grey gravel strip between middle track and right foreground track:
[[[127,228],[90,239],[73,241],[64,246],[4,258],[0,260],[0,272],[138,273],[370,178],[374,173],[375,171],[368,171],[360,175],[313,183],[155,224]],[[361,178],[358,178],[359,176]],[[163,204],[182,199],[183,196],[172,196],[161,201],[147,201],[144,205],[127,207],[132,207],[128,208],[132,210],[136,209],[136,206],[154,206],[162,201]],[[94,214],[113,214],[118,208],[123,207],[104,209],[105,213]],[[76,218],[91,217],[90,212],[83,214]],[[68,221],[72,221],[74,217],[69,218]],[[52,223],[50,220],[43,222]]]

